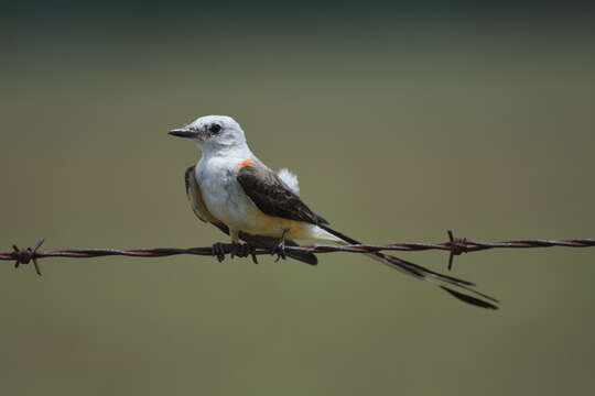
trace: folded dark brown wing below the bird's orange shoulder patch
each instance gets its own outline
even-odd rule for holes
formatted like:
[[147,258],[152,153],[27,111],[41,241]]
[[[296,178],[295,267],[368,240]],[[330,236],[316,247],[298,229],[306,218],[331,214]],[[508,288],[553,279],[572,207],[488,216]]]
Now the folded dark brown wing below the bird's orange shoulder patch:
[[244,191],[263,213],[312,224],[328,224],[314,213],[275,173],[263,166],[248,165],[237,177]]

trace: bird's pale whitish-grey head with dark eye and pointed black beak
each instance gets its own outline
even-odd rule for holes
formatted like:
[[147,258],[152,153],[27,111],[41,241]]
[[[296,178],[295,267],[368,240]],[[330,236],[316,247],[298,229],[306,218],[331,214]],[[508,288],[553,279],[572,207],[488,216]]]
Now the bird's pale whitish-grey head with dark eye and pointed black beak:
[[228,116],[205,116],[170,134],[193,140],[203,153],[246,147],[241,127]]

